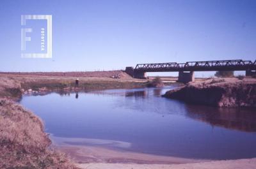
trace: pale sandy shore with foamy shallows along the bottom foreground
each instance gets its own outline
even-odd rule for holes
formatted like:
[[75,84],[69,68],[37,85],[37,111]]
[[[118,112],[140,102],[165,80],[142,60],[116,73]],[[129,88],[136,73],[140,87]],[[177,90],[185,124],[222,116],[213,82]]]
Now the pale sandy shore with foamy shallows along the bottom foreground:
[[[139,152],[108,149],[99,145],[111,147],[129,146],[125,142],[113,140],[97,140],[86,138],[59,138],[51,136],[53,147],[65,152],[77,163],[79,168],[87,169],[242,169],[256,168],[256,158],[235,160],[188,159],[172,156],[157,156]],[[72,143],[73,142],[73,143]],[[77,143],[77,145],[76,145]],[[84,143],[84,145],[83,145]],[[97,144],[97,145],[95,145]],[[128,143],[129,144],[129,143]]]

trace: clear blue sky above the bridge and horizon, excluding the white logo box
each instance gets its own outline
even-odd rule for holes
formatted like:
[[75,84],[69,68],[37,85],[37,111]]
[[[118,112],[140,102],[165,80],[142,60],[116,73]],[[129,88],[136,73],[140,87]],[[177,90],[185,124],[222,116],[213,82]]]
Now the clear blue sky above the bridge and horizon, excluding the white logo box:
[[[0,14],[0,71],[256,59],[256,1],[2,0]],[[20,15],[52,15],[52,59],[20,57]]]

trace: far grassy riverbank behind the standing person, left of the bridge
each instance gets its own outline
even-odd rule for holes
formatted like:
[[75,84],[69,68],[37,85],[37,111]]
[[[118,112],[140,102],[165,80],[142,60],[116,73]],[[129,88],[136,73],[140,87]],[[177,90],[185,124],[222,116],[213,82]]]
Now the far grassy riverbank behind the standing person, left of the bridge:
[[[53,74],[55,75],[55,74]],[[19,100],[22,94],[49,92],[78,92],[104,89],[131,89],[147,87],[147,80],[133,79],[122,75],[121,78],[111,77],[56,77],[37,75],[35,73],[0,73],[0,97]]]

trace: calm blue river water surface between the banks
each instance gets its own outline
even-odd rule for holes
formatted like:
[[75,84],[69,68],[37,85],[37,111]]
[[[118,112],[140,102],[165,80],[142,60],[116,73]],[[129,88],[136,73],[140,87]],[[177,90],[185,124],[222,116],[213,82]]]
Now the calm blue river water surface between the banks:
[[182,158],[256,157],[255,110],[193,106],[160,97],[170,89],[51,93],[24,96],[21,104],[43,119],[52,139],[67,138],[70,144]]

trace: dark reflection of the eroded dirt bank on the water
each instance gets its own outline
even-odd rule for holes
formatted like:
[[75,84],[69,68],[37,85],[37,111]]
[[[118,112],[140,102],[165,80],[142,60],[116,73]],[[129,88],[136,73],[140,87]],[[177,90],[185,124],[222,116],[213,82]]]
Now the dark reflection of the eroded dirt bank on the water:
[[216,108],[186,105],[188,117],[228,129],[256,131],[256,114],[251,108]]

